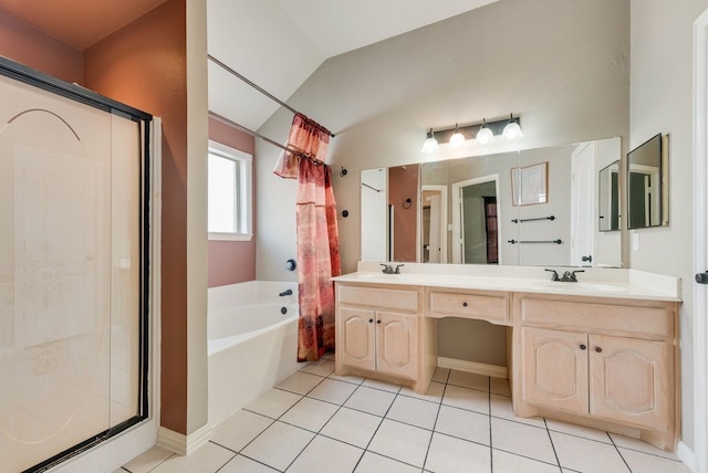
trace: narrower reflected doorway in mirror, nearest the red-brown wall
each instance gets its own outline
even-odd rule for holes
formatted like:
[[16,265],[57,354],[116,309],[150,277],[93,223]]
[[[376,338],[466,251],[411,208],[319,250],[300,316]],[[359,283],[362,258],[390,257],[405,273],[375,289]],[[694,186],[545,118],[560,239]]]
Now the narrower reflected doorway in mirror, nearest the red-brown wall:
[[447,263],[447,186],[423,186],[420,191],[420,261]]

